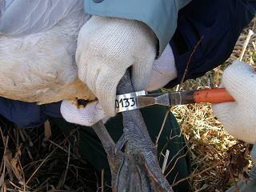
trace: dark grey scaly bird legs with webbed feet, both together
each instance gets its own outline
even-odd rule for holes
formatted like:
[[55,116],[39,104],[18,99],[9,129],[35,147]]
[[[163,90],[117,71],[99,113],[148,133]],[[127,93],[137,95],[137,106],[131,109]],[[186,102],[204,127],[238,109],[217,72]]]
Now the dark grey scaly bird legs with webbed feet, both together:
[[[133,92],[130,74],[126,72],[118,84],[118,94]],[[122,113],[123,134],[117,145],[102,122],[94,124],[110,164],[112,190],[118,191],[170,191],[172,188],[162,175],[157,150],[150,139],[139,110]],[[126,144],[125,153],[122,146]]]

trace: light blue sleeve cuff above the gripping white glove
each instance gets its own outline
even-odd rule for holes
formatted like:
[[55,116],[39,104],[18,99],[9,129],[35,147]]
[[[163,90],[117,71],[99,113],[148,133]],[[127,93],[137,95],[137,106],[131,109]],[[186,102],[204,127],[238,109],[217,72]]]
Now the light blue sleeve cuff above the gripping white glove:
[[177,26],[178,10],[191,0],[84,0],[88,14],[134,19],[146,23],[158,37],[162,54]]

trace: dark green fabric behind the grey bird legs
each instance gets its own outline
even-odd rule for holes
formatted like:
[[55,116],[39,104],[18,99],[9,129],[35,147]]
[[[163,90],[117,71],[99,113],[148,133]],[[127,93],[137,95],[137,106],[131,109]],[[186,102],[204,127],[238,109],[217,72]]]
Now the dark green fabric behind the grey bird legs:
[[[154,106],[142,110],[143,118],[146,122],[146,126],[149,130],[150,137],[153,142],[155,141],[155,138],[158,135],[159,129],[162,125],[163,118],[166,114],[166,109],[166,107]],[[105,173],[107,174],[106,178],[109,178],[110,180],[110,170],[106,159],[106,153],[103,150],[97,135],[94,134],[94,130],[92,130],[90,127],[70,124],[61,118],[51,118],[50,122],[59,126],[59,128],[62,129],[63,133],[66,135],[69,135],[70,131],[78,128],[78,131],[76,131],[74,134],[76,134],[75,140],[78,141],[78,150],[80,154],[83,158],[90,162],[95,167],[95,169],[102,170],[104,168]],[[117,142],[118,138],[120,138],[122,134],[122,114],[118,114],[115,118],[111,118],[106,123],[106,128],[109,131],[111,137],[114,139],[114,142]],[[162,132],[162,136],[158,142],[158,152],[164,148],[163,154],[165,154],[166,149],[168,149],[170,150],[169,162],[170,159],[174,158],[171,165],[167,167],[167,172],[174,166],[174,163],[178,157],[186,154],[187,149],[185,146],[185,140],[182,136],[178,137],[177,135],[179,134],[180,129],[178,122],[174,118],[173,114],[169,114],[166,120],[166,125]],[[162,166],[162,158],[160,165]],[[177,182],[189,174],[190,158],[188,155],[186,155],[186,158],[178,159],[174,169],[171,171],[171,174],[167,177],[167,179],[170,184],[172,184],[174,183],[174,180]],[[178,185],[178,187],[174,187],[175,191],[184,192],[189,191],[188,189],[188,182],[182,182],[180,185]]]

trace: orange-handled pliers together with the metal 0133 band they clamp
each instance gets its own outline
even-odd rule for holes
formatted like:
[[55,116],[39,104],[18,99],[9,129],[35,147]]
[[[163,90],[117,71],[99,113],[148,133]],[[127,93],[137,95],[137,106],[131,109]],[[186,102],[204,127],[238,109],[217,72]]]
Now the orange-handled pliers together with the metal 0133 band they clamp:
[[136,110],[146,106],[177,106],[199,102],[234,102],[234,98],[225,88],[206,90],[176,91],[171,93],[147,94],[145,90],[117,95],[115,100],[116,112]]

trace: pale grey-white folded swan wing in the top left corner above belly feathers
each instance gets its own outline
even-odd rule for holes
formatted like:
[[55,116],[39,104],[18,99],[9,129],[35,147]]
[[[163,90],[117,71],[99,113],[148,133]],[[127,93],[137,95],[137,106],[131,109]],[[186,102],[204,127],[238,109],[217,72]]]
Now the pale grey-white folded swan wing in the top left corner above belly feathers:
[[83,0],[0,0],[0,34],[22,36],[48,30],[83,10]]

